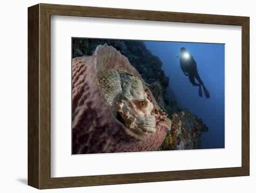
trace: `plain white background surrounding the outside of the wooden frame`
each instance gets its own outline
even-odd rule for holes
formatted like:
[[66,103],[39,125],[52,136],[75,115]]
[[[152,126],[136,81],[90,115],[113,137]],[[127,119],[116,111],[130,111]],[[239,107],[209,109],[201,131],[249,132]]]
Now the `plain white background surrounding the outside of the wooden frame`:
[[[196,192],[196,193],[255,193],[256,167],[254,167],[256,132],[253,112],[256,97],[253,85],[256,67],[253,65],[253,48],[256,46],[254,26],[256,12],[252,0],[23,0],[2,1],[0,5],[0,191],[37,192],[27,186],[27,7],[37,3],[103,6],[159,11],[211,13],[250,17],[250,176],[205,180],[185,180],[157,183],[77,187],[43,190],[41,192],[130,193],[130,192]],[[254,151],[254,154],[253,154]]]

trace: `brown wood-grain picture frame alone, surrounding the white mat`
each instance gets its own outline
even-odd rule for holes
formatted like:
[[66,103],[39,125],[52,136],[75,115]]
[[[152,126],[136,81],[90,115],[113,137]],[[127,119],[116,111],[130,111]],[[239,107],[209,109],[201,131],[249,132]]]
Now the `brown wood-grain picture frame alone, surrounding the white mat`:
[[[50,16],[242,26],[242,167],[51,178]],[[28,8],[28,185],[39,189],[249,175],[249,17],[38,4]]]

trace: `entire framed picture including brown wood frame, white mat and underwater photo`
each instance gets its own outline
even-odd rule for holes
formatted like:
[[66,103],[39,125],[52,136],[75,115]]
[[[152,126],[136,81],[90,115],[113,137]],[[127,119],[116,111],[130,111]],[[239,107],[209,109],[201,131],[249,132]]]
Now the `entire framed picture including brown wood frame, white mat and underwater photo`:
[[28,185],[249,175],[249,18],[28,8]]

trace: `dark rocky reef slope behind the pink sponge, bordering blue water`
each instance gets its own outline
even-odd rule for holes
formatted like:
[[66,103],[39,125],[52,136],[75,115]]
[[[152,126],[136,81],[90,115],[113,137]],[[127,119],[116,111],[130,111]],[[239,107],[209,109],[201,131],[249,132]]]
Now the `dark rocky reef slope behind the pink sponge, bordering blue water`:
[[173,96],[167,94],[169,78],[162,70],[162,62],[146,48],[143,41],[73,38],[72,58],[91,56],[98,45],[105,43],[128,58],[141,74],[159,107],[172,121],[171,130],[158,150],[200,149],[201,132],[208,131],[207,126],[188,109],[180,109]]

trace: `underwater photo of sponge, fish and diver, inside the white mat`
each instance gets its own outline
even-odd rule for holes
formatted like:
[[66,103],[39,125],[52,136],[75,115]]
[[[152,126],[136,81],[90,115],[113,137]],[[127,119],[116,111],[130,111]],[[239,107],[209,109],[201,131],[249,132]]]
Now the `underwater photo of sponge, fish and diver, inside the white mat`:
[[72,38],[72,154],[225,148],[225,44]]

